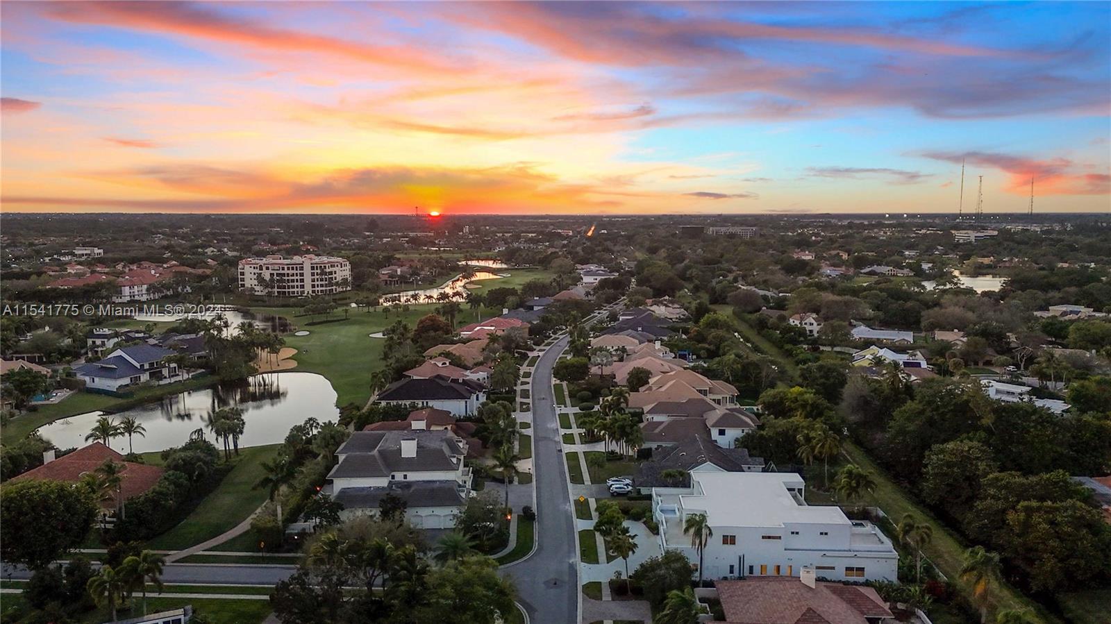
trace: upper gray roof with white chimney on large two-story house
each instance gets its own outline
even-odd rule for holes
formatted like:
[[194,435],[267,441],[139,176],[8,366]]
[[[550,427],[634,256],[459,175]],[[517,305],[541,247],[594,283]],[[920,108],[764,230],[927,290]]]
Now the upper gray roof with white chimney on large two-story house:
[[[417,440],[417,456],[401,456],[401,441]],[[389,476],[396,472],[453,471],[466,454],[450,431],[357,431],[340,445],[329,479]]]

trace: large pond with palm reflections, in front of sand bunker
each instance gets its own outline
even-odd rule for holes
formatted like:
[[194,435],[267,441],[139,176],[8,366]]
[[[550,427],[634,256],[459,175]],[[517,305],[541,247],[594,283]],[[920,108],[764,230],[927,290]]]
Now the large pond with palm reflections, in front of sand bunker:
[[[321,423],[334,422],[340,413],[336,407],[336,391],[327,379],[316,373],[286,372],[263,373],[239,383],[182,392],[109,415],[116,420],[121,416],[138,420],[147,429],[147,435],[133,437],[134,452],[147,453],[180,446],[197,429],[204,430],[206,440],[216,443],[216,436],[208,429],[208,415],[221,407],[243,411],[247,429],[239,439],[240,446],[278,444],[286,440],[291,426],[309,416]],[[38,431],[59,449],[81,447],[87,444],[84,436],[101,415],[106,415],[104,412],[70,416]],[[117,437],[111,446],[127,453],[128,440]]]

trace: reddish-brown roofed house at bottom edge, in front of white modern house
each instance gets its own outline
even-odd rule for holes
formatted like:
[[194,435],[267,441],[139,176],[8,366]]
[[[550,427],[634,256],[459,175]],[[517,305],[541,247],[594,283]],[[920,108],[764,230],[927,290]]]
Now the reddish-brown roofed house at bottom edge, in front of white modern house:
[[802,570],[799,580],[774,576],[718,581],[721,624],[884,624],[895,616],[874,588],[818,581],[818,571]]

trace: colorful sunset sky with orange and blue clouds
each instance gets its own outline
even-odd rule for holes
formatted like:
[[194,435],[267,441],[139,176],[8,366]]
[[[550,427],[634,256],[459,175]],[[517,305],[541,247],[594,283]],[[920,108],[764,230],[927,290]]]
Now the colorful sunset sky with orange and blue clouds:
[[1111,210],[1108,2],[12,2],[4,211]]

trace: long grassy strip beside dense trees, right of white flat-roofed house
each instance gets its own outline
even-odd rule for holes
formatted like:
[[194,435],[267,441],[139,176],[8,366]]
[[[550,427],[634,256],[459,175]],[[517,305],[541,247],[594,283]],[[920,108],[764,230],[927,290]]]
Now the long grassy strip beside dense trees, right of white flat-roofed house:
[[[850,461],[872,473],[872,477],[875,481],[875,492],[865,497],[867,503],[883,510],[893,522],[898,522],[903,514],[910,513],[915,517],[924,519],[933,525],[933,539],[922,548],[922,552],[953,582],[965,597],[971,600],[971,588],[960,580],[960,570],[968,545],[962,543],[960,536],[953,533],[944,523],[910,500],[903,493],[902,489],[891,480],[888,473],[877,465],[862,449],[848,441],[843,443],[842,447]],[[1060,622],[1060,620],[1047,612],[1044,607],[1022,595],[1005,581],[1000,580],[993,583],[992,586],[995,608],[1031,608],[1039,617],[1047,622]]]

